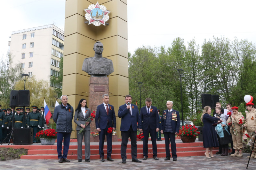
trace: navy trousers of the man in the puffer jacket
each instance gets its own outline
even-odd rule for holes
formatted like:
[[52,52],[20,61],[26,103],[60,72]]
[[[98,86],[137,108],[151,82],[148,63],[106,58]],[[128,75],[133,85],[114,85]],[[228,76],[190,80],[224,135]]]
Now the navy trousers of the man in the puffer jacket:
[[[67,158],[67,156],[68,156],[70,136],[71,136],[71,133],[65,133],[65,132],[58,132],[58,134],[57,134],[57,152],[58,152],[59,159]],[[64,138],[64,140],[63,140],[63,138]],[[63,156],[61,154],[62,140],[63,140]]]

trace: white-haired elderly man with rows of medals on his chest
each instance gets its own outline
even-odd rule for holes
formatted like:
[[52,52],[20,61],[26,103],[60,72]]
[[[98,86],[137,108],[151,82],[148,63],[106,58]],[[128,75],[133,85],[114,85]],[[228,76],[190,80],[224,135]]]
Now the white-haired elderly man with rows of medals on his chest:
[[165,153],[166,158],[164,160],[170,160],[170,141],[171,141],[171,149],[172,149],[172,160],[177,160],[176,154],[176,143],[175,143],[175,135],[178,134],[180,129],[180,114],[179,111],[172,109],[173,102],[167,101],[166,107],[162,116],[162,125],[161,125],[161,133],[164,133],[164,141],[165,141]]

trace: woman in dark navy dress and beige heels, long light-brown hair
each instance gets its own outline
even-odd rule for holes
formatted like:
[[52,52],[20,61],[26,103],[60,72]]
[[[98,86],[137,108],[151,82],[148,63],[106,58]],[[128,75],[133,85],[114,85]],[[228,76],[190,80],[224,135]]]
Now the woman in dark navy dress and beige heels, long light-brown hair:
[[[203,127],[203,144],[205,148],[205,153],[204,155],[206,158],[215,158],[212,153],[212,147],[218,147],[219,142],[217,138],[217,134],[215,131],[214,126],[212,124],[214,122],[217,122],[220,120],[220,118],[217,117],[212,117],[210,114],[212,113],[211,107],[210,106],[205,106],[204,111],[201,116],[201,121],[204,123]],[[209,157],[209,151],[210,151],[210,156]]]

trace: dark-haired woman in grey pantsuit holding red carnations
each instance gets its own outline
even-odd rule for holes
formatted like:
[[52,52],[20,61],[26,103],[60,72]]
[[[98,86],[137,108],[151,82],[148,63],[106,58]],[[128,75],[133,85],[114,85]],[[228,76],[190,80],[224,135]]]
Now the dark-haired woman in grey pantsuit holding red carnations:
[[[84,156],[86,162],[90,162],[90,123],[92,120],[89,120],[86,122],[91,115],[90,109],[87,108],[86,100],[81,99],[78,103],[78,106],[76,108],[76,113],[74,117],[74,122],[76,125],[76,137],[77,137],[77,159],[78,162],[82,162],[82,142],[84,138]],[[85,124],[85,125],[84,125]],[[81,129],[84,129],[82,133],[79,133]]]

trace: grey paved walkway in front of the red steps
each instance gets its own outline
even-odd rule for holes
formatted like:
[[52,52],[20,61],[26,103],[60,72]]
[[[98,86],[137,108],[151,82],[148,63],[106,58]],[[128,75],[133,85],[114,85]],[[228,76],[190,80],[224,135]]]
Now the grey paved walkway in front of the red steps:
[[[154,160],[152,158],[148,160],[142,160],[142,163],[134,163],[131,159],[126,160],[126,164],[121,163],[121,159],[114,159],[114,162],[105,160],[91,160],[90,163],[78,162],[77,160],[71,160],[70,163],[58,163],[58,160],[8,160],[0,162],[0,169],[13,169],[13,170],[120,170],[120,169],[172,169],[172,170],[241,170],[246,169],[248,153],[244,153],[242,158],[231,156],[214,155],[216,158],[207,159],[204,156],[194,157],[178,157],[177,161],[164,161],[164,158]],[[251,159],[248,170],[256,169],[256,159]]]

